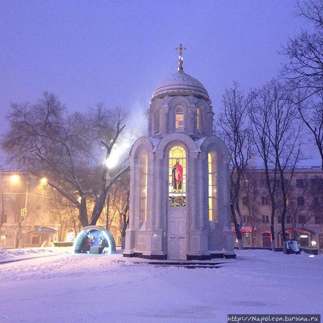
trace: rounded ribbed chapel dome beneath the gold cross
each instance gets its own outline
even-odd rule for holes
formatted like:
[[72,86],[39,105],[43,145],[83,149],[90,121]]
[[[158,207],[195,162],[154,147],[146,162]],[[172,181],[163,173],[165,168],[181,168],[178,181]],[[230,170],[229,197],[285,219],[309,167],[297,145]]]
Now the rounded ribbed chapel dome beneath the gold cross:
[[152,93],[151,102],[165,96],[176,95],[192,95],[201,97],[210,102],[208,93],[202,83],[186,74],[183,70],[178,71],[161,82]]

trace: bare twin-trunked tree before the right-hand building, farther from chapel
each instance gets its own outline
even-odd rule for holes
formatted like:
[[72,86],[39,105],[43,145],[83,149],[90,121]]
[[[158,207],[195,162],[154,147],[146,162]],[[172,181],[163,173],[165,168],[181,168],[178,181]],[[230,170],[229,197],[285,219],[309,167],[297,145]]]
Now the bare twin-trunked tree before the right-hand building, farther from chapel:
[[301,125],[292,93],[277,80],[252,91],[251,102],[249,115],[253,138],[264,164],[272,204],[271,233],[272,248],[275,250],[276,196],[280,194],[283,203],[282,231],[283,240],[286,241],[286,201],[294,170],[300,159]]

